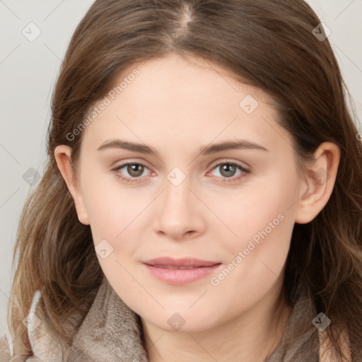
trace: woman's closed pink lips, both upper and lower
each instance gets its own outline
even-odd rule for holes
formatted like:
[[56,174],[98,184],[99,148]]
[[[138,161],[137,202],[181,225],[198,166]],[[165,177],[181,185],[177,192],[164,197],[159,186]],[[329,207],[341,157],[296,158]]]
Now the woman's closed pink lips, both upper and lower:
[[160,257],[147,260],[144,265],[156,279],[167,284],[182,285],[208,276],[218,269],[221,262]]

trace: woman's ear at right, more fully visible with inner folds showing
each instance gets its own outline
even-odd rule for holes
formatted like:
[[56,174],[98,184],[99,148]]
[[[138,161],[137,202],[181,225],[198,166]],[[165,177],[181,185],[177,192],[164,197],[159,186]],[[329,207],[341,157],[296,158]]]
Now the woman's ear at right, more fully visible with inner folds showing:
[[[337,177],[341,150],[337,144],[324,142],[315,151],[313,163],[308,165],[303,196],[296,207],[296,223],[309,223],[322,211],[332,194]],[[302,192],[302,190],[301,190]]]

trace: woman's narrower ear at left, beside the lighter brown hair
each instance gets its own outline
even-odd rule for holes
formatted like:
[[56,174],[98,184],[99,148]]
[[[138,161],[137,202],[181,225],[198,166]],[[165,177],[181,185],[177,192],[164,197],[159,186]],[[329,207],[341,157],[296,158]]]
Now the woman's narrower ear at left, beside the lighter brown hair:
[[59,171],[71,193],[71,197],[73,197],[79,221],[84,225],[89,225],[89,218],[84,205],[83,195],[71,168],[71,147],[64,144],[57,146],[54,150],[54,156]]

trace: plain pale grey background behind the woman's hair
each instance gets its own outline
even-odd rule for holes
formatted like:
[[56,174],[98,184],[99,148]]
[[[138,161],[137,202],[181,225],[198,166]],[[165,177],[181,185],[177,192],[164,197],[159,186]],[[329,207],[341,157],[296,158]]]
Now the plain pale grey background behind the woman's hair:
[[[332,30],[329,41],[361,130],[357,119],[362,119],[362,0],[308,3]],[[52,90],[71,35],[91,4],[93,0],[0,0],[0,337],[7,328],[18,221],[25,199],[35,188],[29,184],[30,177],[35,170],[39,175],[43,172]],[[34,25],[29,25],[30,34],[29,23],[41,30],[33,42],[22,33],[25,28],[28,37],[36,34]]]

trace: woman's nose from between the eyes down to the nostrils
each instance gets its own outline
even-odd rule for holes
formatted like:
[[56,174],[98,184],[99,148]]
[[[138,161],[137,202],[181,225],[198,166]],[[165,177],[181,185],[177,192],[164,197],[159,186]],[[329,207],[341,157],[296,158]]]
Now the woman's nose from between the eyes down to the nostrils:
[[180,185],[173,185],[166,180],[165,190],[160,195],[155,230],[173,240],[195,238],[204,232],[205,206],[189,188],[186,178]]

